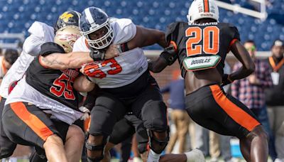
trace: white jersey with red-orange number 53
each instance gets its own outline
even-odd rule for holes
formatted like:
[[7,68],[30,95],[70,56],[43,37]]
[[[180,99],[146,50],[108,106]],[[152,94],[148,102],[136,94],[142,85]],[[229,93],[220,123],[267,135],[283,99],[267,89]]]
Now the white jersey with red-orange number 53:
[[[136,35],[136,26],[128,18],[120,18],[111,22],[114,30],[113,44],[121,44],[130,41]],[[84,36],[74,44],[73,52],[89,52],[89,45]],[[92,65],[92,71],[97,72],[95,77],[89,77],[101,88],[114,88],[129,85],[140,77],[148,69],[146,56],[141,48],[121,53],[118,57],[96,62]]]

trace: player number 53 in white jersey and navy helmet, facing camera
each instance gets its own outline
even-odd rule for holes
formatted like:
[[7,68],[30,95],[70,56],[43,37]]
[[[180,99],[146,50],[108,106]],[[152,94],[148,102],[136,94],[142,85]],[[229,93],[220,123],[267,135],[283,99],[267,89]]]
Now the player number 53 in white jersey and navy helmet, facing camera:
[[[83,36],[76,41],[73,52],[88,52],[96,61],[85,65],[82,71],[99,87],[91,112],[90,135],[86,142],[87,158],[89,161],[102,160],[104,146],[114,124],[131,109],[148,129],[151,139],[149,159],[158,161],[168,144],[166,107],[155,79],[148,72],[143,50],[136,47],[154,43],[165,47],[164,33],[135,26],[127,18],[110,22],[107,13],[95,7],[84,9],[80,30]],[[117,44],[119,56],[107,59],[105,51]],[[55,58],[58,63],[54,62]],[[62,55],[48,55],[43,61],[68,67],[68,60]]]

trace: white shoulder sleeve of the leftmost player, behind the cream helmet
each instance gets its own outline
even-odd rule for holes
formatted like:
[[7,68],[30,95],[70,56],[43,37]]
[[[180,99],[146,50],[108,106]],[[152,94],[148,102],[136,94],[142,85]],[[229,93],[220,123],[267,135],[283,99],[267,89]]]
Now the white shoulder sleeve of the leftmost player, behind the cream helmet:
[[29,55],[36,56],[40,52],[40,46],[45,42],[52,42],[54,39],[54,29],[45,23],[35,21],[28,29],[31,33],[23,43],[23,51]]

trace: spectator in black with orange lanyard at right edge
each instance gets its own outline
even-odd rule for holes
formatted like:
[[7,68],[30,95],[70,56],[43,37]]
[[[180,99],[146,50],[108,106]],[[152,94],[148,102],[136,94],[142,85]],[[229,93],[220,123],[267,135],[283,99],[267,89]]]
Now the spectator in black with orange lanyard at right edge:
[[271,129],[275,135],[275,149],[278,155],[276,161],[284,161],[284,44],[276,40],[271,47],[269,63],[273,87],[266,90],[266,104]]

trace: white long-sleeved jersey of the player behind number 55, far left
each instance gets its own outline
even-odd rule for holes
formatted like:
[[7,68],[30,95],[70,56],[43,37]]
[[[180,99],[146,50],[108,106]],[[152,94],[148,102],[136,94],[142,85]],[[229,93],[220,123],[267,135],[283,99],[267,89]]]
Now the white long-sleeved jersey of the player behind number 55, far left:
[[45,42],[53,42],[54,39],[54,29],[45,23],[40,23],[35,21],[32,26],[28,29],[31,36],[26,38],[23,43],[23,51],[18,57],[12,67],[6,73],[0,86],[1,97],[8,97],[8,88],[11,82],[20,80],[26,70],[28,65],[33,61],[34,56],[38,55],[40,52],[40,46]]

